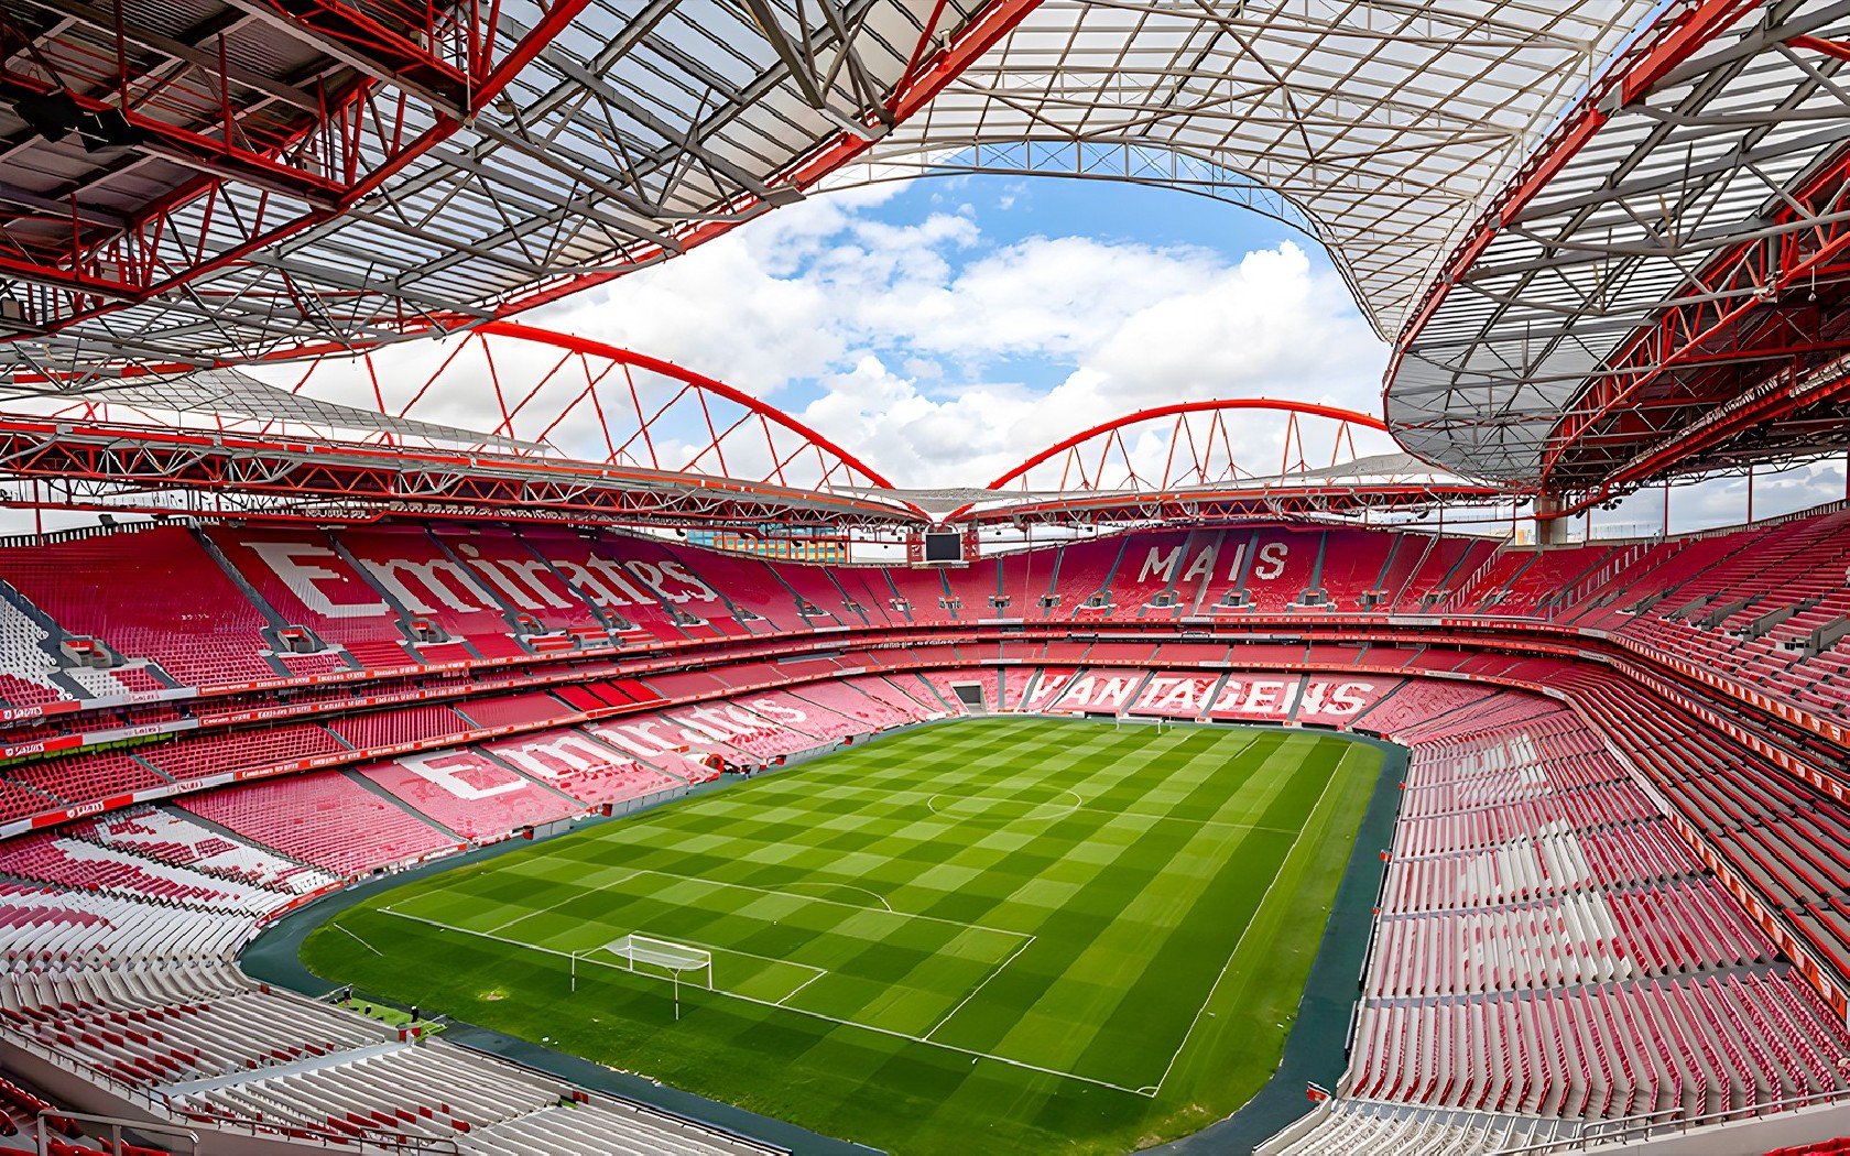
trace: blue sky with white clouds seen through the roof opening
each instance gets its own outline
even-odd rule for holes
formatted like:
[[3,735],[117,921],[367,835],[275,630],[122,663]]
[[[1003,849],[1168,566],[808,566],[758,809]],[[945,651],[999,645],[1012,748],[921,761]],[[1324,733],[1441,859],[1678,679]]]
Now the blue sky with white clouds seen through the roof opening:
[[[1175,400],[1378,414],[1388,363],[1315,239],[1188,192],[1058,178],[812,196],[531,320],[770,400],[903,486],[982,485]],[[1276,438],[1254,427],[1247,449],[1273,461]],[[1754,512],[1843,496],[1841,461],[1802,466],[1758,479]],[[1745,516],[1745,479],[1671,498],[1672,529]],[[1661,490],[1595,514],[1608,535],[1661,522]]]

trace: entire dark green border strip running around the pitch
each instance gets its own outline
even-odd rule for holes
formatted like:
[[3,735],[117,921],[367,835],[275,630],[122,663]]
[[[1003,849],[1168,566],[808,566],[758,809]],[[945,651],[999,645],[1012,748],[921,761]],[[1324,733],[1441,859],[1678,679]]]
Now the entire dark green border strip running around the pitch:
[[[944,719],[942,723],[925,725],[944,725],[960,719]],[[914,727],[905,727],[906,731]],[[1321,731],[1321,729],[1306,729]],[[1356,975],[1362,967],[1362,958],[1367,951],[1367,934],[1371,925],[1371,912],[1360,912],[1360,923],[1354,921],[1356,906],[1371,908],[1375,895],[1378,893],[1380,875],[1384,871],[1380,860],[1380,847],[1388,843],[1391,834],[1395,810],[1399,806],[1397,781],[1406,766],[1406,751],[1391,744],[1376,742],[1360,734],[1339,734],[1358,745],[1373,745],[1382,753],[1382,762],[1376,771],[1375,788],[1369,795],[1369,805],[1360,821],[1360,830],[1356,840],[1350,843],[1349,862],[1343,867],[1336,899],[1332,901],[1332,916],[1326,923],[1325,934],[1319,941],[1317,954],[1308,967],[1308,982],[1302,990],[1301,1001],[1297,1004],[1293,1027],[1289,1038],[1284,1045],[1282,1062],[1275,1067],[1269,1082],[1260,1088],[1260,1091],[1249,1101],[1245,1108],[1236,1112],[1232,1117],[1210,1125],[1206,1132],[1171,1141],[1160,1150],[1173,1152],[1234,1152],[1251,1150],[1252,1145],[1273,1136],[1278,1128],[1286,1126],[1293,1119],[1308,1112],[1310,1104],[1304,1099],[1304,1082],[1317,1080],[1323,1084],[1334,1082],[1345,1065],[1343,1043],[1349,1030],[1350,1010],[1356,1001]],[[860,745],[860,744],[857,744]],[[832,753],[816,751],[810,756],[821,756]],[[808,753],[807,753],[808,755]],[[792,758],[790,766],[799,766],[808,762],[808,758]],[[1391,771],[1391,773],[1389,773]],[[1395,784],[1395,786],[1389,786]],[[712,790],[712,788],[709,788]],[[1386,803],[1386,810],[1384,810]],[[640,814],[640,812],[636,812]],[[1325,821],[1332,816],[1319,808]],[[627,816],[620,816],[627,818]],[[598,819],[614,821],[614,819]],[[572,829],[581,829],[583,823]],[[426,875],[442,873],[479,862],[483,858],[505,853],[512,847],[529,845],[525,840],[511,840],[492,847],[481,847],[464,855],[448,856],[433,864],[426,864],[409,871],[400,871],[381,879],[368,880],[327,899],[309,904],[302,912],[292,912],[268,928],[259,940],[255,940],[244,954],[246,971],[259,980],[276,982],[309,995],[320,995],[333,990],[333,984],[314,977],[300,962],[302,941],[322,923],[333,919],[340,912],[363,903],[364,899],[377,895],[383,890],[394,890],[403,884],[414,882]],[[1339,847],[1338,847],[1339,849]],[[1325,849],[1328,851],[1328,849]],[[1334,864],[1317,862],[1314,864],[1315,875],[1328,875]],[[1312,864],[1302,864],[1299,875],[1310,873]],[[1365,877],[1358,880],[1358,875]],[[1323,919],[1323,912],[1302,912],[1291,910],[1289,904],[1269,904],[1284,910],[1284,919]],[[1276,916],[1276,912],[1275,912]],[[1358,930],[1360,928],[1360,934]],[[1334,953],[1334,954],[1332,954]],[[1336,958],[1341,956],[1341,958]],[[1217,986],[1219,988],[1219,986]],[[1215,991],[1215,1002],[1221,999],[1219,990]],[[379,1001],[390,1002],[390,1001]],[[1284,1008],[1276,1008],[1284,1014]],[[832,1156],[834,1152],[868,1152],[871,1149],[862,1145],[853,1145],[847,1141],[820,1136],[816,1132],[805,1130],[788,1121],[764,1117],[722,1101],[712,1101],[699,1097],[677,1088],[668,1088],[655,1084],[653,1080],[633,1076],[629,1073],[618,1073],[601,1064],[583,1060],[566,1052],[557,1052],[553,1049],[529,1043],[501,1032],[481,1028],[475,1025],[455,1021],[450,1032],[450,1039],[462,1043],[466,1047],[477,1047],[511,1058],[516,1064],[527,1067],[536,1067],[551,1075],[574,1080],[586,1088],[607,1091],[612,1095],[629,1097],[642,1101],[646,1104],[668,1110],[672,1113],[686,1115],[720,1128],[740,1132],[786,1147],[797,1152],[818,1152],[823,1156]],[[1193,1062],[1223,1060],[1225,1049],[1212,1049],[1206,1045],[1197,1045],[1195,1039],[1190,1041],[1190,1049],[1184,1054],[1184,1067]],[[1173,1134],[1175,1119],[1169,1121],[1166,1132]],[[1186,1125],[1184,1125],[1186,1126]],[[1151,1138],[1154,1139],[1154,1138]],[[1243,1147],[1241,1147],[1243,1145]]]

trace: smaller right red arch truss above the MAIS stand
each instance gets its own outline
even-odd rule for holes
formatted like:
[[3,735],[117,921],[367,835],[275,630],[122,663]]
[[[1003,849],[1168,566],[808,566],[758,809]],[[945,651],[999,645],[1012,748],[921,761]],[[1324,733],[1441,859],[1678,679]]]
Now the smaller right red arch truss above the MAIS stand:
[[1380,418],[1310,401],[1228,398],[1141,409],[1082,429],[986,490],[964,492],[949,518],[1099,523],[1354,514],[1497,494],[1393,451]]

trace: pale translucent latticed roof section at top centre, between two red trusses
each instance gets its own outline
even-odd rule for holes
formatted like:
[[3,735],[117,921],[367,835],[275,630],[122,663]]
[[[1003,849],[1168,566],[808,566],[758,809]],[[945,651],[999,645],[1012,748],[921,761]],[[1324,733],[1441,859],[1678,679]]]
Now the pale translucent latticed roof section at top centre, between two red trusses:
[[1221,196],[1314,231],[1391,337],[1650,9],[1045,0],[842,179],[1051,172]]

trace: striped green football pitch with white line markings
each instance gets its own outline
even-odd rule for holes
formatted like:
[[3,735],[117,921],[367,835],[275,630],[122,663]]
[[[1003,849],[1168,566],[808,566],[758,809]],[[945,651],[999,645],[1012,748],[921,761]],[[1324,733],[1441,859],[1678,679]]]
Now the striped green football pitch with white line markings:
[[[1378,768],[1315,732],[927,727],[396,888],[302,958],[892,1152],[1119,1152],[1265,1084]],[[716,991],[675,1021],[599,951],[629,932],[710,951]]]

